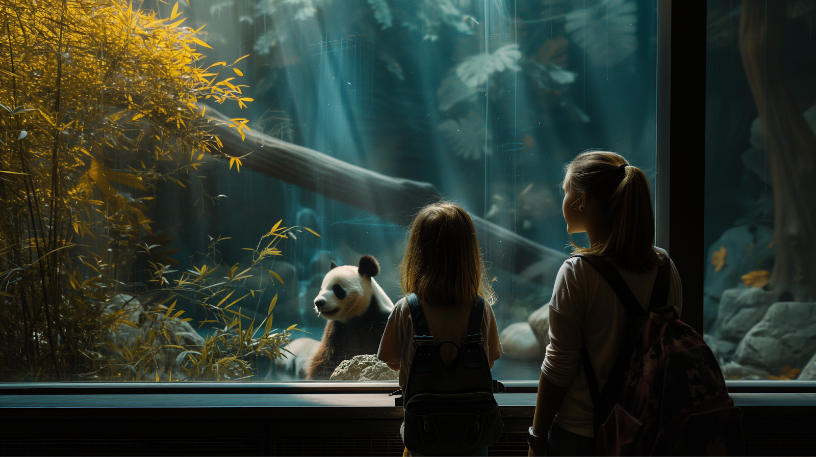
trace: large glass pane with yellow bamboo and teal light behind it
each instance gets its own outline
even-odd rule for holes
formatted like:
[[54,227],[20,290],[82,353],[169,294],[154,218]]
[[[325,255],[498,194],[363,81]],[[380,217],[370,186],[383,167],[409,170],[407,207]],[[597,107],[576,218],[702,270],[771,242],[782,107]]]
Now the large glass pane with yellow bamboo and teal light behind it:
[[331,263],[397,301],[440,197],[494,278],[494,377],[537,379],[563,165],[654,170],[655,2],[43,1],[0,43],[2,380],[305,379],[315,301],[356,292]]

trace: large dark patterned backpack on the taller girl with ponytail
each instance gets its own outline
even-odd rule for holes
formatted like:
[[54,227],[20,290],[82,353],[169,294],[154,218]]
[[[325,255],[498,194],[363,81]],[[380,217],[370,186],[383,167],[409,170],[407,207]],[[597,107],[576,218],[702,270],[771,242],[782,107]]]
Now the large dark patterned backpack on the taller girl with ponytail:
[[743,455],[742,412],[728,394],[712,350],[667,304],[668,257],[659,266],[647,312],[610,261],[579,257],[610,283],[632,318],[602,391],[589,354],[581,349],[598,455]]

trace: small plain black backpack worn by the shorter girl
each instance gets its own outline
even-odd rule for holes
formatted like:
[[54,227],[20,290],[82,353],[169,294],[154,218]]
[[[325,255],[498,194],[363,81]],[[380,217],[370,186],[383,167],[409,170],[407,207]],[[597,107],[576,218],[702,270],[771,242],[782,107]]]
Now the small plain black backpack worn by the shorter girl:
[[[416,352],[401,398],[405,411],[402,441],[408,450],[427,455],[468,452],[499,441],[504,424],[493,393],[503,391],[503,385],[490,376],[481,345],[485,301],[479,297],[472,308],[468,336],[459,347],[453,341],[435,345],[419,299],[413,293],[406,299],[414,323]],[[445,344],[459,349],[450,364],[439,355]]]

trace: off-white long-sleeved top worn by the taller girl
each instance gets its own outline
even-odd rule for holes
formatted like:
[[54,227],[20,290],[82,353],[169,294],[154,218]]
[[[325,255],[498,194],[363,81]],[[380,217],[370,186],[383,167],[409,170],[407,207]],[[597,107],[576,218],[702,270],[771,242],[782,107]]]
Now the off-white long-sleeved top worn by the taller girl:
[[[643,310],[649,306],[657,269],[636,273],[616,267]],[[672,263],[668,302],[682,306],[680,276]],[[569,386],[555,423],[585,437],[593,437],[592,398],[581,362],[587,346],[592,368],[603,389],[623,346],[630,319],[614,289],[587,261],[567,259],[558,270],[550,301],[550,344],[541,371],[552,384]]]

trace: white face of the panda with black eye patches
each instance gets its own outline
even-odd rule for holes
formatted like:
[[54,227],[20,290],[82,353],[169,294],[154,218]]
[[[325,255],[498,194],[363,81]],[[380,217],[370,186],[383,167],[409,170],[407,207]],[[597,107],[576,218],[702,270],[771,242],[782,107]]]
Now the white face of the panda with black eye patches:
[[357,266],[337,266],[323,278],[320,293],[314,299],[314,309],[329,320],[344,321],[357,317],[368,309],[371,281],[357,272]]

